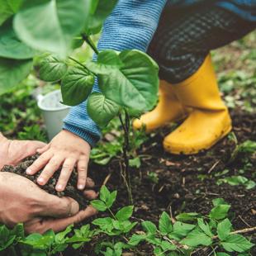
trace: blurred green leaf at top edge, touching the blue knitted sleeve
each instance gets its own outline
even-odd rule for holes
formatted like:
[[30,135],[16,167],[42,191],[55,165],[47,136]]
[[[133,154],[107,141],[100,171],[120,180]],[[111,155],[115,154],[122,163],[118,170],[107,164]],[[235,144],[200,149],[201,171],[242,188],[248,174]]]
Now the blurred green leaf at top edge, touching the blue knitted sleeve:
[[91,12],[85,22],[85,33],[87,35],[97,34],[101,31],[103,22],[111,13],[118,0],[90,0]]

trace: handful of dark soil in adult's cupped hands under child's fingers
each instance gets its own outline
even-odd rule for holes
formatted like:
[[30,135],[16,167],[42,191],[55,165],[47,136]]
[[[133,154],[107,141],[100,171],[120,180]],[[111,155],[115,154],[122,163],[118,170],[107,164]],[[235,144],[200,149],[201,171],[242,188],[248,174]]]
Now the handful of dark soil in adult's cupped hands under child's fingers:
[[[36,173],[35,175],[31,176],[26,174],[26,168],[31,166],[31,164],[33,164],[38,157],[39,157],[39,154],[33,155],[29,158],[24,159],[24,161],[17,166],[6,165],[2,168],[2,172],[15,173],[30,179],[33,183],[36,183],[36,180],[40,176],[40,173],[42,172],[42,170]],[[77,182],[78,182],[77,170],[76,169],[73,170],[73,173],[69,178],[69,183],[67,184],[67,187],[64,190],[64,192],[57,192],[55,190],[55,186],[59,178],[59,173],[60,173],[60,169],[55,172],[54,176],[50,178],[49,182],[45,186],[40,186],[38,183],[36,183],[36,185],[44,189],[46,192],[49,192],[50,194],[56,195],[58,197],[72,197],[74,200],[78,201],[80,209],[84,209],[86,206],[88,206],[88,201],[83,196],[83,192],[77,189]]]

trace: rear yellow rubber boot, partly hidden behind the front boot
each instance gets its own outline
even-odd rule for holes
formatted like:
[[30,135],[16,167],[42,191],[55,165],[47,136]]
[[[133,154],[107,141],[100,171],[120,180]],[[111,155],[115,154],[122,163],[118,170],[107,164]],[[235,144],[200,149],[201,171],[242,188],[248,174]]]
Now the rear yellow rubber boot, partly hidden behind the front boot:
[[153,111],[135,119],[133,127],[135,130],[145,126],[146,132],[165,126],[169,122],[178,121],[186,116],[182,104],[173,92],[173,86],[164,80],[159,84],[159,103]]

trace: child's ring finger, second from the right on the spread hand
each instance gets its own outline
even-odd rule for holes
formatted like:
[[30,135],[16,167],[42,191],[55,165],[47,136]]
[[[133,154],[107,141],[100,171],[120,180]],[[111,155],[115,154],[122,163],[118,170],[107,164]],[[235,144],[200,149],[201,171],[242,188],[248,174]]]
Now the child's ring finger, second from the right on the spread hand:
[[59,175],[59,180],[55,187],[57,191],[64,191],[69,181],[70,175],[73,172],[73,168],[75,164],[76,164],[76,159],[64,160],[64,164]]

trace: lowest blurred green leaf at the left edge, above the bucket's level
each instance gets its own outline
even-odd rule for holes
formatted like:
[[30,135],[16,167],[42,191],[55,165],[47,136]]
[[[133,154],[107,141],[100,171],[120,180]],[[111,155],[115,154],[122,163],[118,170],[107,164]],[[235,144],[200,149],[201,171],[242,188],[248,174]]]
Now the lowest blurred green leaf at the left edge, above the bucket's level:
[[0,58],[0,95],[10,92],[31,72],[33,61]]

